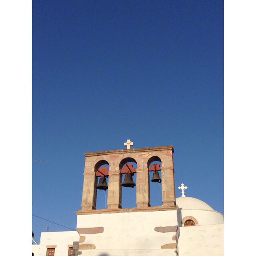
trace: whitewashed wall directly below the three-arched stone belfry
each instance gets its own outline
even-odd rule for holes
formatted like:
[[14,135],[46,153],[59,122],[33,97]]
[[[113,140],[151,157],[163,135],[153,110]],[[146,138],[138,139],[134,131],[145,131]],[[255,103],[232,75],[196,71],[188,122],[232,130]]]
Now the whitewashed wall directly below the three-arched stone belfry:
[[[176,210],[157,212],[124,212],[111,214],[88,214],[77,216],[77,229],[103,227],[98,234],[80,234],[85,236],[84,242],[92,244],[94,250],[80,250],[82,255],[176,255],[172,249],[161,249],[165,244],[176,244],[175,226],[177,222]],[[174,227],[172,232],[157,232],[156,227]],[[111,251],[111,252],[110,252]],[[154,253],[153,253],[154,252]],[[170,254],[171,253],[171,254]]]

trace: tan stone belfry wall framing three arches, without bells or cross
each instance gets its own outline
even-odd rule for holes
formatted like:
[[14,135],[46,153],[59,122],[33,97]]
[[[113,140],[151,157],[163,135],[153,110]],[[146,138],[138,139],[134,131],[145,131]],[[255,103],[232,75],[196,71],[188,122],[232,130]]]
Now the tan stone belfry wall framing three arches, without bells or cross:
[[108,178],[108,209],[122,207],[120,162],[125,158],[133,158],[137,162],[136,169],[136,204],[138,208],[148,207],[148,160],[154,156],[162,162],[162,202],[164,207],[175,206],[174,166],[172,146],[150,148],[133,148],[126,150],[106,150],[84,153],[84,184],[82,192],[82,210],[96,208],[96,176],[95,166],[105,160],[109,164]]

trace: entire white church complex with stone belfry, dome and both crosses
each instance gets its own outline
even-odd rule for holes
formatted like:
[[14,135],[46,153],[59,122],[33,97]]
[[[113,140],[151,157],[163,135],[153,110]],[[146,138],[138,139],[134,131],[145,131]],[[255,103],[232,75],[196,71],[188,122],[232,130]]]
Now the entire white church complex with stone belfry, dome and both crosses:
[[[222,256],[224,216],[185,196],[184,184],[175,196],[173,146],[124,145],[84,153],[76,231],[42,232],[34,256]],[[152,182],[161,186],[161,206],[150,205]],[[122,187],[136,190],[136,207],[122,207]],[[108,192],[105,209],[96,208],[98,190]]]

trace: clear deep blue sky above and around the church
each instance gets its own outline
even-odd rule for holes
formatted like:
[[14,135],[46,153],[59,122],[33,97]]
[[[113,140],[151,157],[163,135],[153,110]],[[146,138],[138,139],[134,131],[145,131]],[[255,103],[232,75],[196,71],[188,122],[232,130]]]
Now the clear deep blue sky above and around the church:
[[34,0],[32,30],[34,215],[75,229],[83,152],[127,138],[173,145],[176,196],[224,212],[223,1]]

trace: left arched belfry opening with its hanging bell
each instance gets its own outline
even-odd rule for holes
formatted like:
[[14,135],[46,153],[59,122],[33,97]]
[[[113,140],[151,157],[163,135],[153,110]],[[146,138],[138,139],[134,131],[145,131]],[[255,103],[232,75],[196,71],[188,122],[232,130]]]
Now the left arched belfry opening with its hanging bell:
[[108,200],[108,162],[106,160],[101,160],[97,162],[94,167],[94,172],[96,176],[96,209],[106,209]]

